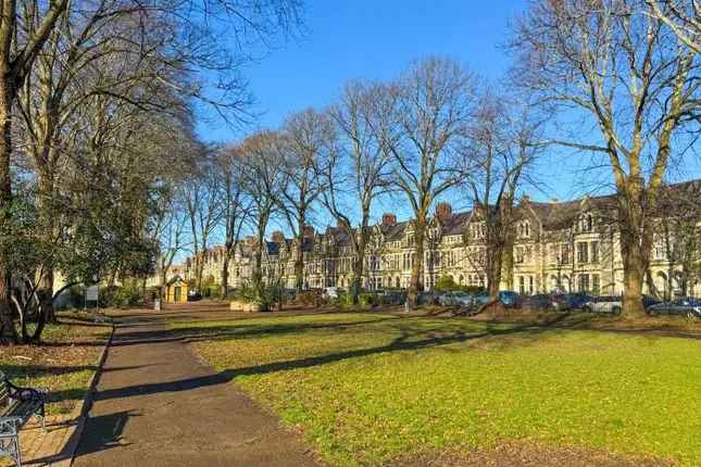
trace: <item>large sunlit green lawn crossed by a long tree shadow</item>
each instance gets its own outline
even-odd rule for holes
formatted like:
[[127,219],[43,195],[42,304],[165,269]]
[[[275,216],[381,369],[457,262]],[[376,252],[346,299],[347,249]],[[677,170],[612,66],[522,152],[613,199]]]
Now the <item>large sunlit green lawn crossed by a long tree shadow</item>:
[[378,314],[174,324],[331,465],[501,443],[701,464],[701,341]]

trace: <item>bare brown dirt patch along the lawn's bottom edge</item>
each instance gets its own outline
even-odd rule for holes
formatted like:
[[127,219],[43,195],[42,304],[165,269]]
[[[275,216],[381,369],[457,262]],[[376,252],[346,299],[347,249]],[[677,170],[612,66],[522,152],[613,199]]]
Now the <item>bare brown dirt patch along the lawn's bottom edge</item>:
[[669,460],[624,457],[606,451],[503,443],[468,453],[441,451],[402,455],[391,467],[666,467]]

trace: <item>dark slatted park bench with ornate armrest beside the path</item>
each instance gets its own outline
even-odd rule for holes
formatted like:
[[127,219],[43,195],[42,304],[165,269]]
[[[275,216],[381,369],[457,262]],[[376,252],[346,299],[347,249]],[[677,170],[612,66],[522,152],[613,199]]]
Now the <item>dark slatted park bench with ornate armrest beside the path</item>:
[[49,392],[45,389],[20,388],[0,371],[0,457],[10,457],[22,467],[20,429],[36,416],[46,431],[43,404]]

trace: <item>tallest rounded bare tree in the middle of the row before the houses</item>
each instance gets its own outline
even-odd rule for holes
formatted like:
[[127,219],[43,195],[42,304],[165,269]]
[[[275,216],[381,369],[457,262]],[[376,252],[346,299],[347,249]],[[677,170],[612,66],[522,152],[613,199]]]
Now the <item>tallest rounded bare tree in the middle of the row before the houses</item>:
[[414,214],[416,261],[408,294],[414,306],[423,290],[424,241],[434,201],[462,180],[459,148],[474,102],[473,77],[458,63],[431,58],[414,63],[392,85],[391,112],[400,138],[384,138],[395,165],[393,181]]

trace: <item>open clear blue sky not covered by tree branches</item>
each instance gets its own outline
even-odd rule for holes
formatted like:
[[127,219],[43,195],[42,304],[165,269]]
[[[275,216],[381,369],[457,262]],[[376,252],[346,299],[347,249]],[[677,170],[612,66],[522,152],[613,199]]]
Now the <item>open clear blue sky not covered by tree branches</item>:
[[[246,76],[258,100],[260,127],[274,128],[286,115],[308,106],[334,102],[353,78],[389,79],[412,60],[447,55],[490,79],[509,66],[501,47],[509,21],[526,8],[526,0],[308,0],[302,37],[272,50],[250,65]],[[231,129],[212,119],[198,132],[205,141],[233,141],[254,129]],[[610,179],[605,167],[592,173],[590,159],[553,150],[539,167],[541,190],[531,198],[573,199],[589,192],[591,181]],[[698,162],[678,178],[699,177]],[[458,203],[459,204],[459,203]],[[383,206],[378,206],[381,212]]]

